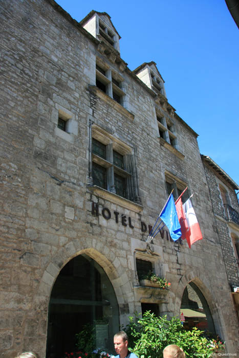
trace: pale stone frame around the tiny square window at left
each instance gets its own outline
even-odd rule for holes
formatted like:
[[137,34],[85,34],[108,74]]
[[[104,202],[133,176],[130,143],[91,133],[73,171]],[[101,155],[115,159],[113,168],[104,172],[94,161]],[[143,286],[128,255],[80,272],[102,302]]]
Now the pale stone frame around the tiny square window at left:
[[[66,122],[64,130],[58,127],[59,118]],[[53,121],[56,124],[56,136],[67,142],[73,143],[74,136],[78,136],[78,123],[75,120],[75,115],[67,108],[56,104],[56,110],[53,111]]]

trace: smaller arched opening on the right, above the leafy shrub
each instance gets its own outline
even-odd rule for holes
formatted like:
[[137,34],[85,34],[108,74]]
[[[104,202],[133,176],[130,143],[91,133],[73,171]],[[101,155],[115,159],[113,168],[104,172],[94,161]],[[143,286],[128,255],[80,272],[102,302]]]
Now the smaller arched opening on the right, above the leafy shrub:
[[184,328],[197,327],[200,330],[215,334],[214,323],[207,301],[201,290],[193,282],[187,284],[184,289],[180,316],[182,314],[185,317]]

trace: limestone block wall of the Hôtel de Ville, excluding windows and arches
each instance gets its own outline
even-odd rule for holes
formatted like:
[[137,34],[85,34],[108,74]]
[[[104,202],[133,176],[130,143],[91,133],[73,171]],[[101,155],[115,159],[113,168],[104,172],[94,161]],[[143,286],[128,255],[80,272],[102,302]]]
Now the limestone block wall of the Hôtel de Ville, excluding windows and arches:
[[[140,310],[146,297],[137,291],[134,255],[146,249],[141,221],[153,225],[166,201],[165,170],[194,192],[204,239],[189,249],[185,242],[173,244],[165,232],[150,244],[171,282],[162,312],[178,315],[185,285],[195,282],[216,331],[227,341],[227,351],[235,352],[237,321],[194,133],[176,121],[184,159],[162,146],[153,94],[128,69],[120,70],[118,63],[99,53],[97,40],[52,0],[7,0],[0,6],[1,356],[13,358],[30,349],[45,356],[51,289],[62,267],[82,253],[110,278],[121,324]],[[127,110],[104,94],[103,99],[92,95],[96,56],[124,79]],[[58,113],[74,121],[71,133],[57,128]],[[90,121],[133,148],[141,205],[112,194],[96,195],[88,185]],[[92,214],[92,203],[99,205],[99,216]],[[105,219],[103,207],[112,215],[126,215],[127,225]]]

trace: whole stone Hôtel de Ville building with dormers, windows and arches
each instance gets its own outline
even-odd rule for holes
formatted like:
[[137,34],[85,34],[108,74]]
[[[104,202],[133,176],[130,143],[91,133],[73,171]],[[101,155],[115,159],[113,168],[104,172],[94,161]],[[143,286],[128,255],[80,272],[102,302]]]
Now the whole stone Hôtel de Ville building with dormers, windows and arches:
[[[156,63],[129,70],[106,13],[77,23],[53,0],[0,7],[1,356],[59,356],[83,323],[105,317],[98,338],[112,351],[135,311],[179,316],[188,283],[236,353],[238,267],[225,266],[231,247],[197,133],[169,104]],[[186,186],[203,240],[189,249],[164,230],[146,244],[168,191]],[[169,290],[140,284],[145,262]]]

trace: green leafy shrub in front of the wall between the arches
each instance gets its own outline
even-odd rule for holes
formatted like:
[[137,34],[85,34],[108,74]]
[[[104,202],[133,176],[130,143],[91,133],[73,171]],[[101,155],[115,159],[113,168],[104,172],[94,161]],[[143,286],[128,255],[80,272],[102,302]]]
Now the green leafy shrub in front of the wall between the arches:
[[145,312],[142,318],[129,317],[129,323],[124,328],[129,337],[129,346],[139,358],[158,358],[163,355],[163,349],[169,344],[180,346],[186,357],[211,357],[215,348],[202,335],[202,331],[193,328],[187,331],[177,318],[170,321],[167,317],[156,317],[153,313]]

